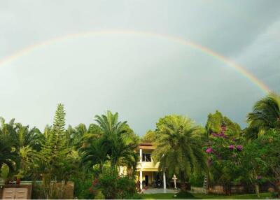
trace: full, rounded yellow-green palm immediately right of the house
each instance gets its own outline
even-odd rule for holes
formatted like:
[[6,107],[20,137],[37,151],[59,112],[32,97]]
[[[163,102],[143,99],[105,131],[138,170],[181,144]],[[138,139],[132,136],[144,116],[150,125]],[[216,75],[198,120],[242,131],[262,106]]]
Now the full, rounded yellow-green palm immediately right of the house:
[[176,174],[181,180],[182,190],[194,171],[206,169],[202,150],[202,128],[181,115],[169,115],[157,124],[158,137],[153,159],[160,162],[159,170],[167,171],[169,177]]

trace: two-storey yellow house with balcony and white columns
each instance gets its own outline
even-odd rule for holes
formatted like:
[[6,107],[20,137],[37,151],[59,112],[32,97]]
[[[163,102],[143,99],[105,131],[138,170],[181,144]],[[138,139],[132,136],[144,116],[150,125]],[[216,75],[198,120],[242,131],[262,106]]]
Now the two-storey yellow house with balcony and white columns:
[[[151,154],[155,150],[152,143],[140,143],[137,152],[139,152],[140,160],[137,165],[137,181],[140,182],[141,190],[153,184],[158,176],[159,162],[153,162]],[[163,188],[166,189],[165,172],[163,172]]]

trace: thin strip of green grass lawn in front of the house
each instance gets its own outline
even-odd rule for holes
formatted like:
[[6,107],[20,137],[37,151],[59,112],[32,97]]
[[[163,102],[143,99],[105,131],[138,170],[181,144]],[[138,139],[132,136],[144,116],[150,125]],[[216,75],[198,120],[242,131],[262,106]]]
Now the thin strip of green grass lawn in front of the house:
[[256,194],[239,194],[239,195],[218,195],[218,194],[199,194],[199,193],[188,193],[177,195],[178,197],[174,198],[174,194],[165,193],[165,194],[141,194],[143,199],[265,199],[270,197],[269,193],[261,193],[260,198]]

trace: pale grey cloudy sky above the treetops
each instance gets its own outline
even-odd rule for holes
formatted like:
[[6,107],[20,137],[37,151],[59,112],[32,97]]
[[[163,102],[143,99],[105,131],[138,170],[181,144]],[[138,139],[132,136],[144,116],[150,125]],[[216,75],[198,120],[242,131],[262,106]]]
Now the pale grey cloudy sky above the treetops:
[[111,110],[140,136],[165,115],[204,126],[216,110],[246,127],[266,92],[181,41],[280,93],[279,10],[278,0],[2,0],[0,116],[43,129],[64,103],[66,124]]

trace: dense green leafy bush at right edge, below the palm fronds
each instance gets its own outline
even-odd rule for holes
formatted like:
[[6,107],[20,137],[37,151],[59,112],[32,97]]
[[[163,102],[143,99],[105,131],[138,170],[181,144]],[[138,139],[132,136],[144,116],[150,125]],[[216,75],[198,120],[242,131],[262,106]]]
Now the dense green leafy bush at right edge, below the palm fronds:
[[267,180],[279,183],[280,178],[280,132],[270,129],[263,136],[251,141],[244,148],[241,160],[243,181],[255,185],[258,193],[259,185]]

